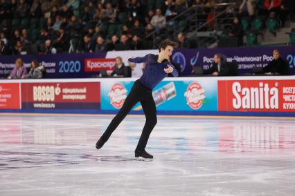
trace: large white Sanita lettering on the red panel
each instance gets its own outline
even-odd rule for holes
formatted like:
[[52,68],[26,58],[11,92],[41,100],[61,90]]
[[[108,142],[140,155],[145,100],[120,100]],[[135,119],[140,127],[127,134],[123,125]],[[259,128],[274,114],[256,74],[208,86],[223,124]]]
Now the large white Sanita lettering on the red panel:
[[242,88],[240,82],[233,83],[233,108],[235,109],[278,109],[278,83],[259,83],[259,87]]

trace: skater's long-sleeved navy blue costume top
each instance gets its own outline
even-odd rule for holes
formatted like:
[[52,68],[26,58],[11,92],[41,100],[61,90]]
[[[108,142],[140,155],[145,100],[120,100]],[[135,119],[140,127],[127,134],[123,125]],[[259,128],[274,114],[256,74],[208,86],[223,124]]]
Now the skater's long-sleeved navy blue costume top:
[[146,63],[145,69],[143,70],[143,75],[139,79],[143,86],[153,89],[160,81],[162,81],[168,74],[164,71],[165,68],[168,68],[168,65],[173,68],[172,75],[174,77],[178,76],[178,72],[167,59],[163,60],[161,63],[158,63],[158,55],[148,54],[144,57],[136,57],[133,59],[128,59],[132,63]]

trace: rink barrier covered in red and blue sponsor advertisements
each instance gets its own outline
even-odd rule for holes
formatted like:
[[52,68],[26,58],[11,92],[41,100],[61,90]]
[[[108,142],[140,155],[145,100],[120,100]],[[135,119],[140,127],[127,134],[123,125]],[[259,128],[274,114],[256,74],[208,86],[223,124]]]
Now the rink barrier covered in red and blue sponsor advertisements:
[[[0,112],[116,114],[135,80],[1,80]],[[166,78],[153,97],[159,115],[295,117],[295,76]]]

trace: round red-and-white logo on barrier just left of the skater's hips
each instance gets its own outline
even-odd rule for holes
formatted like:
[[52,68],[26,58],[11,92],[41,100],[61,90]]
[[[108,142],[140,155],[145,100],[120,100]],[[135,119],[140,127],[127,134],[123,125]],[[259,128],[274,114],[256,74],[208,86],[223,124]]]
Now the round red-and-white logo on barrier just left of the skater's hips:
[[120,83],[114,84],[111,87],[111,91],[109,92],[109,99],[111,101],[111,105],[116,109],[122,108],[124,101],[127,97],[127,90]]

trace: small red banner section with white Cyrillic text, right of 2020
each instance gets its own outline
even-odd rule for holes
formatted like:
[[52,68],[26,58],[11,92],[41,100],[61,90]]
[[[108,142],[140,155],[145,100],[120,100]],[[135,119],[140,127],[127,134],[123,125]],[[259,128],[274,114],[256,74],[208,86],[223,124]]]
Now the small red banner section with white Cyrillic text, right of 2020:
[[85,59],[85,72],[99,72],[100,70],[114,70],[116,59]]

